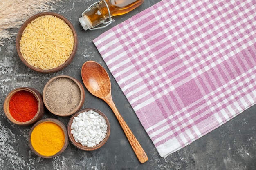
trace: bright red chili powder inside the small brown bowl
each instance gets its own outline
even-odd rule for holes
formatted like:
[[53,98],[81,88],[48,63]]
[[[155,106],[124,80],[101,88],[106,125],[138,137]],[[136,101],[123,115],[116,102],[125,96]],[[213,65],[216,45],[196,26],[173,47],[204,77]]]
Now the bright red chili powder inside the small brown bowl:
[[18,91],[10,99],[9,111],[13,119],[19,122],[31,120],[37,113],[38,101],[29,91]]

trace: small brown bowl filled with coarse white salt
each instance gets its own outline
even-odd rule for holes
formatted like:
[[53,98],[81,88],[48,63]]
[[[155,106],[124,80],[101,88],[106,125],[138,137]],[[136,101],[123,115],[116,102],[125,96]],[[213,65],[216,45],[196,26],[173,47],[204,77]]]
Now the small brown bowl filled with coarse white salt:
[[108,140],[110,123],[100,110],[85,108],[72,115],[67,124],[67,134],[76,148],[96,150]]

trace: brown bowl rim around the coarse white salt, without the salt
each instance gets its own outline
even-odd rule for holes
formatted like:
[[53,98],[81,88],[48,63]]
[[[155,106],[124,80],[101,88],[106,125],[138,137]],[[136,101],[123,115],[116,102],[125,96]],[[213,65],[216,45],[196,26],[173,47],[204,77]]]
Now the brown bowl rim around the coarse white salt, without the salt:
[[[74,117],[76,117],[77,115],[79,115],[80,113],[83,113],[83,112],[87,112],[87,111],[94,111],[94,112],[97,112],[99,113],[99,115],[103,116],[104,119],[106,120],[106,124],[108,126],[107,128],[107,133],[106,133],[106,137],[103,139],[103,141],[101,141],[98,145],[96,146],[93,146],[93,147],[87,147],[87,146],[83,146],[82,144],[78,143],[75,141],[72,133],[71,133],[71,125],[72,125],[72,122],[73,122],[73,119]],[[108,137],[110,135],[110,123],[108,121],[108,118],[106,117],[106,115],[104,115],[101,111],[97,110],[97,109],[94,109],[94,108],[85,108],[83,110],[80,110],[79,112],[75,113],[74,115],[72,115],[72,117],[70,118],[68,124],[67,124],[67,134],[68,134],[68,137],[71,141],[71,143],[76,147],[76,148],[79,148],[81,150],[85,150],[85,151],[92,151],[92,150],[96,150],[98,148],[101,148],[105,143],[106,141],[108,140]]]

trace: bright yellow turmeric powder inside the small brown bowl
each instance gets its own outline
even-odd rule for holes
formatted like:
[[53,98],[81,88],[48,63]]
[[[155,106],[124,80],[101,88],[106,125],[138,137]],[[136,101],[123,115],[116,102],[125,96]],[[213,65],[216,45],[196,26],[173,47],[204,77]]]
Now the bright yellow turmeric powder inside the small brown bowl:
[[65,135],[60,126],[53,122],[38,124],[31,132],[31,145],[43,156],[52,156],[63,148]]

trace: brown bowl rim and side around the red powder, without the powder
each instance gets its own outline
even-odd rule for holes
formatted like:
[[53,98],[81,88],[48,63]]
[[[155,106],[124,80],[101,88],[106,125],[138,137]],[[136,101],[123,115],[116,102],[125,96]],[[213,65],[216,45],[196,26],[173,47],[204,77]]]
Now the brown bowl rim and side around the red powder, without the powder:
[[[28,91],[31,94],[33,94],[36,97],[37,102],[38,102],[38,110],[37,110],[36,115],[32,119],[27,120],[27,121],[17,121],[16,119],[13,118],[13,116],[10,113],[10,109],[9,109],[9,104],[10,104],[10,101],[11,101],[11,98],[13,97],[13,95],[16,94],[17,92],[22,93],[22,91]],[[30,124],[34,124],[36,121],[40,120],[43,117],[44,112],[45,112],[45,108],[43,105],[42,95],[39,91],[37,91],[34,88],[30,88],[30,87],[16,88],[13,91],[11,91],[4,100],[4,113],[5,113],[6,117],[14,124],[18,124],[21,126],[27,126]]]

